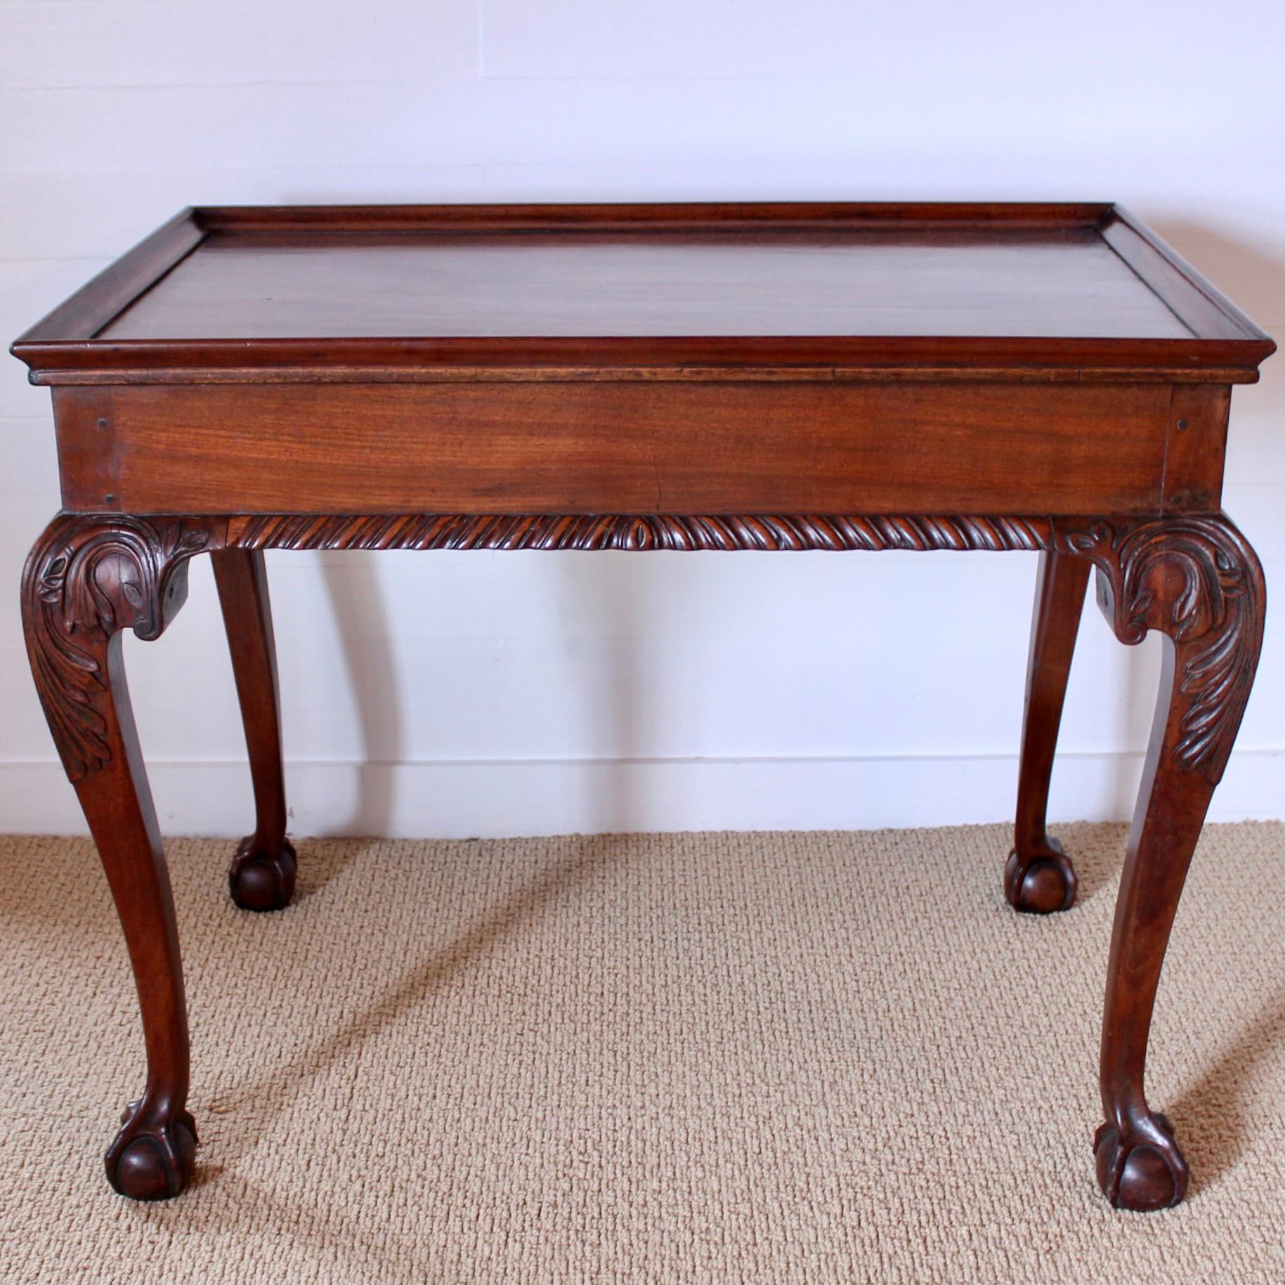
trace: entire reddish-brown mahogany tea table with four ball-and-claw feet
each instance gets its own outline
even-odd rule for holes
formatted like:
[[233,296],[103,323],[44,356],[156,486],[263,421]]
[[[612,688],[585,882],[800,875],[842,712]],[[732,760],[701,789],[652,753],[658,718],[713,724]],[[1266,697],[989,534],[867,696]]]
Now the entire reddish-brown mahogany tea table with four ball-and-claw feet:
[[[1144,1091],[1192,847],[1263,634],[1221,509],[1267,338],[1110,204],[188,209],[28,330],[62,509],[23,576],[31,666],[116,900],[146,1042],[117,1191],[191,1176],[179,937],[121,666],[213,559],[254,784],[238,905],[294,885],[265,549],[1040,553],[1013,906],[1076,896],[1045,804],[1090,568],[1164,636],[1101,1045],[1106,1199],[1176,1204]],[[1033,1110],[1037,1109],[1034,1105]],[[858,1122],[853,1121],[853,1128]],[[1029,1139],[1027,1162],[1040,1164]]]

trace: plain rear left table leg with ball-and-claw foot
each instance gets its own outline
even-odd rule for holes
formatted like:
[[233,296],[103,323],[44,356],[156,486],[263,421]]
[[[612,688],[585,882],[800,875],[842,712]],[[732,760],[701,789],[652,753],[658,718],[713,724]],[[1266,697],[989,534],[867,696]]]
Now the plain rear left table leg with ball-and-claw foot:
[[233,857],[227,888],[243,910],[281,910],[294,893],[298,858],[285,838],[281,707],[263,553],[221,549],[211,560],[254,783],[254,833],[242,840]]

